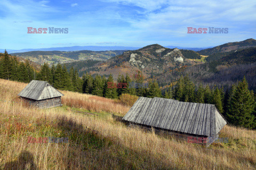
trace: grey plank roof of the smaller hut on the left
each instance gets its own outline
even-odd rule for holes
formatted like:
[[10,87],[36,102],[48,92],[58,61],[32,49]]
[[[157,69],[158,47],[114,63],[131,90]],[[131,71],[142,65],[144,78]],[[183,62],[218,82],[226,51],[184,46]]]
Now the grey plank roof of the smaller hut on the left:
[[43,100],[64,96],[61,92],[52,87],[47,81],[32,80],[19,93],[18,96],[34,100]]

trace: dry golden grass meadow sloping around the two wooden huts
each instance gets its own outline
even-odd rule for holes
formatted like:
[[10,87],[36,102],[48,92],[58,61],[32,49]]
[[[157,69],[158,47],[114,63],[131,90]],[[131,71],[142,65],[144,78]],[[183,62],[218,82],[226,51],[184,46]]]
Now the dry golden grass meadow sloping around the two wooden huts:
[[25,86],[0,79],[0,169],[256,169],[256,131],[226,125],[229,142],[205,148],[114,120],[130,109],[118,100],[61,91],[62,107],[17,103]]

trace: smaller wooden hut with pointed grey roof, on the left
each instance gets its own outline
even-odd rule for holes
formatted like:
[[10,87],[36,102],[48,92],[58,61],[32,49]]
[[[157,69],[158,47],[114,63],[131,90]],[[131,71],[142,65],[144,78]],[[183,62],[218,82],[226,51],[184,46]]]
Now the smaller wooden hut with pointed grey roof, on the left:
[[25,102],[39,108],[62,106],[61,92],[52,87],[47,81],[32,80],[19,95]]

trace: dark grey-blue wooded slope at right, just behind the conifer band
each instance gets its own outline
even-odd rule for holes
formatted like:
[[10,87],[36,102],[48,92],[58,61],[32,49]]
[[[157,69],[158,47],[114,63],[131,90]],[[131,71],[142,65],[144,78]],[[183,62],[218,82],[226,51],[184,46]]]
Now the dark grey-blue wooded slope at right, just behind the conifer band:
[[173,70],[164,74],[156,75],[160,86],[166,86],[170,82],[177,81],[181,75],[193,80],[197,86],[230,88],[237,81],[241,81],[245,76],[249,82],[251,90],[256,89],[256,47],[238,50],[222,57],[220,60],[207,62],[204,64],[188,66],[185,69]]

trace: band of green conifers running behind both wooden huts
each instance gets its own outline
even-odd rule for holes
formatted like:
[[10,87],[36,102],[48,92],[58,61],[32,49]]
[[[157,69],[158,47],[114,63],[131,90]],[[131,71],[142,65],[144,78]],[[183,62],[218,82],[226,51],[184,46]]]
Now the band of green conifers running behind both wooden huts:
[[83,74],[78,77],[78,71],[73,67],[68,71],[65,65],[57,64],[51,67],[44,63],[41,70],[35,71],[29,64],[19,62],[15,56],[10,57],[5,50],[0,60],[0,78],[20,82],[31,80],[48,81],[54,88],[92,94],[107,98],[118,98],[122,94],[143,97],[164,97],[185,102],[214,104],[228,123],[256,128],[256,102],[253,90],[248,89],[244,79],[233,84],[225,91],[223,88],[210,88],[208,85],[195,86],[188,75],[181,76],[175,86],[161,89],[155,80],[145,82],[141,72],[130,77],[128,74],[119,75],[114,82],[112,75],[108,78],[100,75]]

